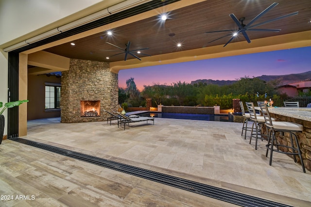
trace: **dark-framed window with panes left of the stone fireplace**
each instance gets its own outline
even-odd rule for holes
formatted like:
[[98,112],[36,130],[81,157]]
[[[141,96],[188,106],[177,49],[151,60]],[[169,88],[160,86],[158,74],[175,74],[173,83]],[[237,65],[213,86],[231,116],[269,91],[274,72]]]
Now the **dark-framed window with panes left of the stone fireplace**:
[[45,86],[45,109],[60,109],[60,86]]

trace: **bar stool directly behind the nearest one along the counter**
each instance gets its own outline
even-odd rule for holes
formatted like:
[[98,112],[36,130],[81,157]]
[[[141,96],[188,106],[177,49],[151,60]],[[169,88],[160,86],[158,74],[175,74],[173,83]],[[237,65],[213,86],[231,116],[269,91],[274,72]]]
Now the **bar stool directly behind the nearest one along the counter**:
[[[257,150],[258,138],[260,138],[261,141],[263,139],[268,140],[268,131],[266,134],[261,133],[261,129],[264,126],[265,120],[264,120],[263,116],[256,113],[254,103],[253,102],[245,102],[245,104],[247,106],[247,109],[248,109],[248,112],[250,115],[250,120],[254,122],[252,125],[252,132],[251,132],[249,143],[252,142],[252,137],[254,137],[256,139],[255,149]],[[254,127],[255,127],[255,133],[253,133]]]

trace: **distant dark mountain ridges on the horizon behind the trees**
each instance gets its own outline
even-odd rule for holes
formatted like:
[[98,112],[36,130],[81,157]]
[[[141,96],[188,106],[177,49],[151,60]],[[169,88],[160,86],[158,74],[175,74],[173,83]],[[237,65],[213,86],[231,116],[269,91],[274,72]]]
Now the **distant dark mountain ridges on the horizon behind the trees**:
[[[279,83],[279,85],[285,85],[288,83],[294,83],[294,82],[299,82],[302,80],[311,80],[311,71],[307,71],[304,73],[297,73],[297,74],[289,74],[289,75],[273,75],[273,76],[267,76],[267,75],[262,75],[259,77],[255,77],[255,78],[259,78],[260,80],[264,80],[264,81],[277,81]],[[233,83],[235,83],[237,80],[211,80],[211,79],[199,79],[199,80],[193,80],[191,81],[191,85],[193,84],[198,84],[199,82],[202,83],[206,83],[208,84],[216,84],[216,85],[231,85]]]

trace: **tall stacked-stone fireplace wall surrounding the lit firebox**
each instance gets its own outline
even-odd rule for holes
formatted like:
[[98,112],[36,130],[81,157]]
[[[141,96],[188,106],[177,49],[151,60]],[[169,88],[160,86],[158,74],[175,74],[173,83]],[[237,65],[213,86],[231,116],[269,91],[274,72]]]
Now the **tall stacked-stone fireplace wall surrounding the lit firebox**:
[[[71,59],[61,84],[62,123],[104,121],[108,114],[103,110],[118,110],[118,74],[110,72],[109,63]],[[81,100],[100,100],[100,116],[81,117]]]

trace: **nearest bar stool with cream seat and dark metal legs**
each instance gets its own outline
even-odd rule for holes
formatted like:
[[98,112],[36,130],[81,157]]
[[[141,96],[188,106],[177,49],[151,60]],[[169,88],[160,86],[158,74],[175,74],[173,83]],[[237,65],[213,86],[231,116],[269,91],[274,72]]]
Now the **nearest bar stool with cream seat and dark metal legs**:
[[[302,166],[302,170],[304,173],[306,173],[305,165],[303,163],[302,157],[301,157],[301,150],[299,147],[298,139],[295,133],[302,132],[303,126],[300,124],[296,124],[293,122],[280,122],[280,121],[274,121],[272,123],[272,118],[270,117],[270,113],[268,111],[268,107],[266,104],[260,105],[260,109],[262,111],[263,117],[265,119],[265,125],[269,129],[269,136],[268,136],[268,144],[266,144],[266,157],[268,157],[268,151],[270,150],[270,162],[269,164],[272,164],[272,154],[273,152],[279,152],[287,155],[293,155],[294,161],[297,162],[296,155],[299,156],[300,163]],[[288,132],[290,134],[290,140],[291,140],[291,146],[279,144],[276,141],[276,133],[284,133]],[[272,138],[271,138],[272,135]],[[294,142],[293,142],[294,137]],[[272,140],[271,140],[272,139]],[[295,146],[294,146],[295,145]],[[274,148],[276,146],[276,149]],[[285,147],[287,149],[291,149],[289,152],[283,152],[278,149],[278,147]]]

